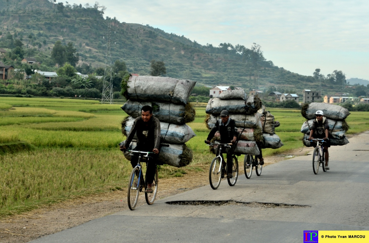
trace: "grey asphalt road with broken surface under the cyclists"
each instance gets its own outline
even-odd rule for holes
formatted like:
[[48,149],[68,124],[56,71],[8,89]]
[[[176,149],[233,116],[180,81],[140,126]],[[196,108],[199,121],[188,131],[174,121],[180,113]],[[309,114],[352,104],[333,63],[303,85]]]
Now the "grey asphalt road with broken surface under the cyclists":
[[[295,157],[239,176],[234,187],[223,180],[217,190],[207,185],[32,242],[295,243],[303,230],[369,230],[369,132],[349,141],[330,148],[327,172],[313,173],[311,155]],[[207,203],[168,204],[175,201]]]

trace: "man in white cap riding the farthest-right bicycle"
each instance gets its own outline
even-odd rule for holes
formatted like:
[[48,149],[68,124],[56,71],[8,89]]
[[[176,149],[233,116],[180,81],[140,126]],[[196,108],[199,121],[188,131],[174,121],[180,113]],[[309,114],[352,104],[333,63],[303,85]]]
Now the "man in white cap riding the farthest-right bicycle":
[[318,138],[318,139],[323,139],[325,143],[323,144],[323,149],[324,149],[324,159],[325,159],[325,170],[329,170],[329,166],[328,166],[328,158],[329,158],[329,153],[328,153],[328,147],[330,147],[330,142],[328,139],[328,131],[329,131],[329,126],[328,126],[328,119],[326,117],[323,117],[323,111],[317,111],[315,112],[315,119],[313,124],[310,127],[310,135],[308,140],[311,141],[312,138]]

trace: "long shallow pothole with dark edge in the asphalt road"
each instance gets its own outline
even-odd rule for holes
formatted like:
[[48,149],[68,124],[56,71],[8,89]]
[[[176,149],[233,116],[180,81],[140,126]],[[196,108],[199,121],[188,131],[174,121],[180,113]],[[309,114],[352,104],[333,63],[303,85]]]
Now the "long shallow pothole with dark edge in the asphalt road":
[[271,202],[238,202],[234,200],[223,200],[223,201],[170,201],[166,202],[170,205],[205,205],[205,206],[249,206],[254,208],[310,208],[308,205],[296,205],[296,204],[281,204]]

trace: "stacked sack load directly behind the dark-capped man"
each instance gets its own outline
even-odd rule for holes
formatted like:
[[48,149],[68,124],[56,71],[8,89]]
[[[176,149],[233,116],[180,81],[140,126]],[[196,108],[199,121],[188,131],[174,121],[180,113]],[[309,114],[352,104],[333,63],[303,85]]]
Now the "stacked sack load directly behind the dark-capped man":
[[[235,154],[259,155],[256,142],[263,142],[261,114],[257,111],[262,107],[258,96],[246,96],[242,89],[223,91],[218,97],[211,98],[206,106],[205,119],[207,128],[211,129],[220,119],[220,112],[227,110],[230,118],[235,121],[239,138],[234,150]],[[214,135],[212,141],[220,141],[220,133]],[[213,150],[215,152],[215,150]]]

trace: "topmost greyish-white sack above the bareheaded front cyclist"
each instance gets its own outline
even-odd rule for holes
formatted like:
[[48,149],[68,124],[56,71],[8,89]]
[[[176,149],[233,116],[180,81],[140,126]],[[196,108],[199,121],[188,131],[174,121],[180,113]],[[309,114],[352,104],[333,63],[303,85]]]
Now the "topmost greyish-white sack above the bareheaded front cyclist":
[[127,100],[186,104],[196,82],[170,77],[131,76],[124,95]]

